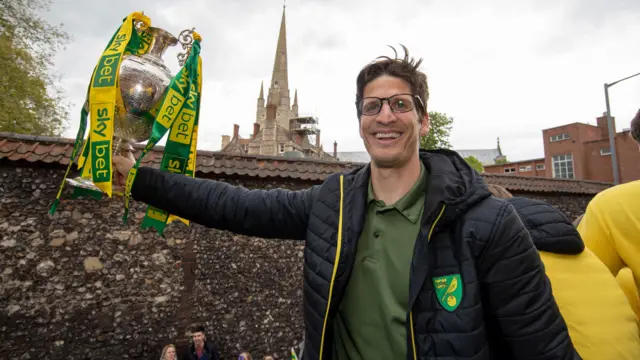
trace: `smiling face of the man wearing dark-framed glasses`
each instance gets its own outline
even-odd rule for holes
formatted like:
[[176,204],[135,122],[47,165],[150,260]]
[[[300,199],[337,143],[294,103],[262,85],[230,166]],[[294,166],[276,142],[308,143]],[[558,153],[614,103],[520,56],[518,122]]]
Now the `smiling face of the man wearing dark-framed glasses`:
[[[409,84],[402,79],[382,75],[365,86],[363,98],[388,98],[398,94],[411,94]],[[413,106],[411,111],[394,112],[390,104],[384,101],[379,113],[360,117],[360,137],[364,140],[371,161],[379,168],[403,167],[413,156],[417,156],[420,136],[429,131],[428,115],[425,114],[422,122],[419,121],[418,100],[411,96],[406,99],[412,103],[396,102],[394,106]]]

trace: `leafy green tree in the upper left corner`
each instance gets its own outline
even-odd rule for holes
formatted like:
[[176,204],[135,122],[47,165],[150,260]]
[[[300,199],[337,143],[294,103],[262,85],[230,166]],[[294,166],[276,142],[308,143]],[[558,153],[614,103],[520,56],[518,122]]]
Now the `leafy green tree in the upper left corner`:
[[0,131],[49,136],[64,131],[69,105],[52,67],[69,35],[38,15],[50,4],[0,1]]

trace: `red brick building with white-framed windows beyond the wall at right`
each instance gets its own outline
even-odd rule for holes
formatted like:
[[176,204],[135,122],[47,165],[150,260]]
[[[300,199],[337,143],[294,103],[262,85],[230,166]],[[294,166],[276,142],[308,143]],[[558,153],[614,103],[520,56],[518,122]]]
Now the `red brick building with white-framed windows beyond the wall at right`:
[[[609,129],[603,115],[597,125],[572,123],[542,130],[544,158],[488,165],[490,174],[542,176],[613,182]],[[615,129],[615,118],[613,118]],[[621,183],[640,179],[640,150],[629,129],[615,135]]]

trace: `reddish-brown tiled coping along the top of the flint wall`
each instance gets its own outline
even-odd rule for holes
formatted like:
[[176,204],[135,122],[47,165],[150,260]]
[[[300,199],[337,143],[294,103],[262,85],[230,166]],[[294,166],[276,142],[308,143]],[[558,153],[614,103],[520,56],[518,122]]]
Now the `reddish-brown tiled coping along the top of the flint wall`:
[[[136,149],[140,154],[142,146]],[[0,132],[0,161],[28,161],[68,165],[73,140],[38,137]],[[142,161],[145,166],[158,167],[164,147],[155,147]],[[196,169],[211,176],[251,176],[322,181],[328,175],[353,169],[360,164],[304,158],[284,158],[259,155],[235,155],[217,151],[198,151]],[[488,183],[509,191],[596,194],[611,186],[595,181],[559,180],[503,174],[483,174]]]

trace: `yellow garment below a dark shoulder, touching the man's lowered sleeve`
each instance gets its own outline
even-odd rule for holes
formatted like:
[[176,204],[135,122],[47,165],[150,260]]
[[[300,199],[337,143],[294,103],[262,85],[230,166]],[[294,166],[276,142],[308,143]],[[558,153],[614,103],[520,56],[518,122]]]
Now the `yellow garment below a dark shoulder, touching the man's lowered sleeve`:
[[640,359],[640,329],[622,289],[589,249],[540,251],[569,335],[584,360]]

